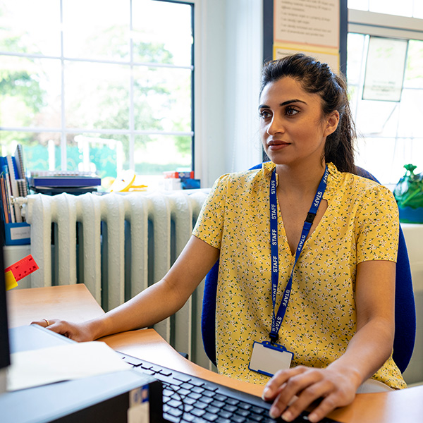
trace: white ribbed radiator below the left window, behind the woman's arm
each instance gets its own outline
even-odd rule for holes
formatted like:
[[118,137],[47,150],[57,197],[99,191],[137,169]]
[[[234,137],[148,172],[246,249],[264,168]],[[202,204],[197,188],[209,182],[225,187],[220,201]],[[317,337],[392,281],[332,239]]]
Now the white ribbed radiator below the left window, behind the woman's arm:
[[[202,190],[28,196],[24,212],[39,266],[31,287],[85,283],[104,310],[122,304],[166,274],[206,197]],[[203,283],[183,309],[154,329],[208,366],[200,331],[202,288]]]

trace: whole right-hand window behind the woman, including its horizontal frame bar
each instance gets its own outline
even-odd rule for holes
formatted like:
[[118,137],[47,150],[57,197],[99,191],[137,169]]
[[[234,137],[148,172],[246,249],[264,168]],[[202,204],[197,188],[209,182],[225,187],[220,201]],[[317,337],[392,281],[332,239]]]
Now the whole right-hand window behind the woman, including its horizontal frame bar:
[[[356,162],[381,183],[395,185],[405,173],[405,164],[423,171],[422,2],[350,0],[348,6],[361,9],[350,9],[348,18],[347,78],[359,135]],[[371,36],[407,42],[400,102],[362,99]]]

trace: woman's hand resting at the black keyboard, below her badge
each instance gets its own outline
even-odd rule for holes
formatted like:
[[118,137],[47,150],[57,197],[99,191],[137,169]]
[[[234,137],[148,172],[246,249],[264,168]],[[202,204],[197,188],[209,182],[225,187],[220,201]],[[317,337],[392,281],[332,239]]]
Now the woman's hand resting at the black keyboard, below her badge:
[[290,422],[300,415],[315,400],[321,402],[308,419],[319,422],[333,411],[353,402],[360,382],[353,372],[342,372],[340,369],[316,369],[298,366],[280,370],[264,387],[262,398],[273,400],[270,415],[281,417]]

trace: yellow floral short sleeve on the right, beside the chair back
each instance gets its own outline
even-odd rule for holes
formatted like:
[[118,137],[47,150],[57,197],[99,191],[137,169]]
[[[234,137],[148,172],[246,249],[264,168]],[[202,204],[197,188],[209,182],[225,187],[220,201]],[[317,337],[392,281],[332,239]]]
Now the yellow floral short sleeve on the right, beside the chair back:
[[396,262],[399,219],[395,198],[382,185],[364,189],[362,194],[357,219],[357,262]]

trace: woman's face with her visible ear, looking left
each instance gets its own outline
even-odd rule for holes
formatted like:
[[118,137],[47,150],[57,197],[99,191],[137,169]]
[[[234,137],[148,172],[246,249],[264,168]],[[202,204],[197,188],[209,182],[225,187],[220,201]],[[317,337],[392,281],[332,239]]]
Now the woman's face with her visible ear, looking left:
[[259,105],[260,135],[275,164],[319,164],[326,137],[336,130],[337,111],[323,116],[319,94],[302,89],[293,78],[264,87]]

